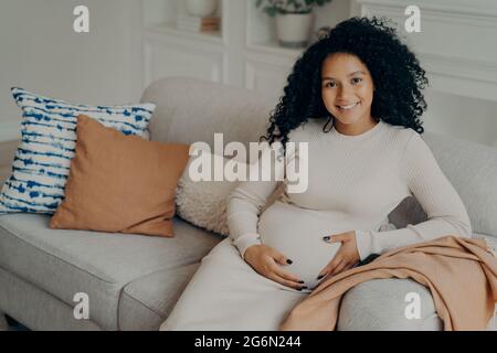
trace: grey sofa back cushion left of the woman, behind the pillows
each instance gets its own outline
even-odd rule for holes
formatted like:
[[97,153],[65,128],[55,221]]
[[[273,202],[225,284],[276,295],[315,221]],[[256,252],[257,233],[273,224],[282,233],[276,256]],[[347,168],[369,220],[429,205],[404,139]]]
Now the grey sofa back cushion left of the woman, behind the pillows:
[[256,92],[188,77],[159,79],[141,100],[157,103],[149,124],[151,140],[204,141],[211,149],[215,132],[223,133],[224,145],[240,141],[248,147],[258,141],[274,108]]

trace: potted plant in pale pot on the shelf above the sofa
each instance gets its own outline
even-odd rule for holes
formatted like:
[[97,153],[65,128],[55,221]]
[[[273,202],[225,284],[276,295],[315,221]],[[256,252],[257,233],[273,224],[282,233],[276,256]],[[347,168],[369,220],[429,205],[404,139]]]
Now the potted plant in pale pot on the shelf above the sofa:
[[305,47],[314,25],[313,8],[332,0],[257,0],[256,8],[276,19],[276,36],[285,47]]

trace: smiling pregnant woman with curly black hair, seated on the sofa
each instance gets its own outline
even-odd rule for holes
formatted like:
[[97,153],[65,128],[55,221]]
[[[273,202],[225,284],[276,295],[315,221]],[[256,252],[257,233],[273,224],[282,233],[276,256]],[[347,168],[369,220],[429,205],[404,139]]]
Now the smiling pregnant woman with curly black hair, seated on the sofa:
[[[203,258],[161,329],[277,330],[326,276],[395,247],[470,237],[465,206],[421,138],[426,84],[414,54],[378,19],[341,22],[307,49],[263,137],[285,147],[286,165],[308,158],[307,190],[285,190],[262,212],[278,181],[242,182],[228,200],[230,237]],[[410,195],[427,221],[392,229],[388,215]],[[421,319],[405,318],[410,292],[421,299]],[[338,329],[442,323],[425,287],[376,279],[346,293]]]

